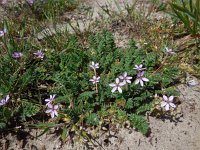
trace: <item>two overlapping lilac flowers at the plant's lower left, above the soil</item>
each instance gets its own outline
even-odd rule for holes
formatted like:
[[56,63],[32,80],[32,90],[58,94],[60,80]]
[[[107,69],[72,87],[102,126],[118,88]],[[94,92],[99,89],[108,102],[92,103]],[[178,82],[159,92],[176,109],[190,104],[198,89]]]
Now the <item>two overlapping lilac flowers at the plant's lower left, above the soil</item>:
[[48,109],[46,110],[46,113],[50,113],[51,114],[51,118],[54,118],[55,116],[58,116],[58,105],[54,105],[53,101],[55,100],[55,94],[54,95],[50,95],[49,98],[45,99],[45,102]]

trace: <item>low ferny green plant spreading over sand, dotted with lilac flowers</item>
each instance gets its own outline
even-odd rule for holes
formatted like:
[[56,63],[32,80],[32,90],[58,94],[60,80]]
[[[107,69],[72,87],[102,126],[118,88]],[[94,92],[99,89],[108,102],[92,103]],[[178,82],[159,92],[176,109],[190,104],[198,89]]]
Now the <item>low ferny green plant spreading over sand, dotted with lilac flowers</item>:
[[[107,30],[90,35],[87,47],[75,35],[66,35],[46,37],[42,45],[30,38],[21,47],[17,39],[3,36],[1,128],[15,126],[16,121],[26,125],[31,117],[40,116],[31,127],[45,132],[59,124],[70,131],[109,119],[113,123],[129,120],[147,134],[145,114],[155,93],[171,96],[163,89],[177,80],[176,66],[167,60],[161,65],[162,56],[138,48],[134,40],[127,48],[116,47]],[[167,54],[166,59],[170,57]],[[53,123],[38,123],[47,115]],[[67,131],[64,128],[63,134]]]

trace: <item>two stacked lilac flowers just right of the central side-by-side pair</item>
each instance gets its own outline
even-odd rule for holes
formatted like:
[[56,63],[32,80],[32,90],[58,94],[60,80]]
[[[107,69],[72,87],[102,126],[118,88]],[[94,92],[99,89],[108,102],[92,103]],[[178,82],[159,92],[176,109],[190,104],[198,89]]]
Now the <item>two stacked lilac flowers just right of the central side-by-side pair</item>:
[[142,67],[143,67],[142,64],[140,64],[140,65],[135,65],[135,68],[134,68],[134,69],[136,69],[137,72],[138,72],[138,73],[137,73],[137,78],[136,78],[136,80],[135,80],[135,84],[140,83],[141,86],[144,86],[144,82],[148,82],[149,79],[147,79],[147,78],[144,77],[144,70],[145,70],[146,68],[142,68]]

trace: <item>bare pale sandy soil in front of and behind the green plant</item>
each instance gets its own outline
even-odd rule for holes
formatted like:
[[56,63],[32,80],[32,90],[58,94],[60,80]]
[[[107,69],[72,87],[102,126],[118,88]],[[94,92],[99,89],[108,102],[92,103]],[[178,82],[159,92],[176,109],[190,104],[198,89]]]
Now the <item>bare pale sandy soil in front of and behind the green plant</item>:
[[[104,5],[105,1],[100,3]],[[98,4],[94,1],[85,4],[93,7],[95,17],[98,17],[100,14]],[[114,7],[113,1],[111,6]],[[115,34],[118,46],[124,46],[128,37],[126,35],[123,37],[118,32]],[[120,43],[123,40],[124,42]],[[36,139],[34,137],[41,133],[40,130],[25,129],[18,134],[1,135],[0,150],[200,150],[200,85],[189,87],[181,84],[177,89],[181,93],[179,119],[171,121],[150,117],[152,133],[149,137],[144,137],[134,129],[118,126],[109,132],[100,133],[100,137],[96,140],[101,146],[96,142],[94,142],[96,146],[90,142],[86,142],[85,145],[75,143],[72,146],[70,140],[62,143],[60,137],[54,133],[55,130]]]

